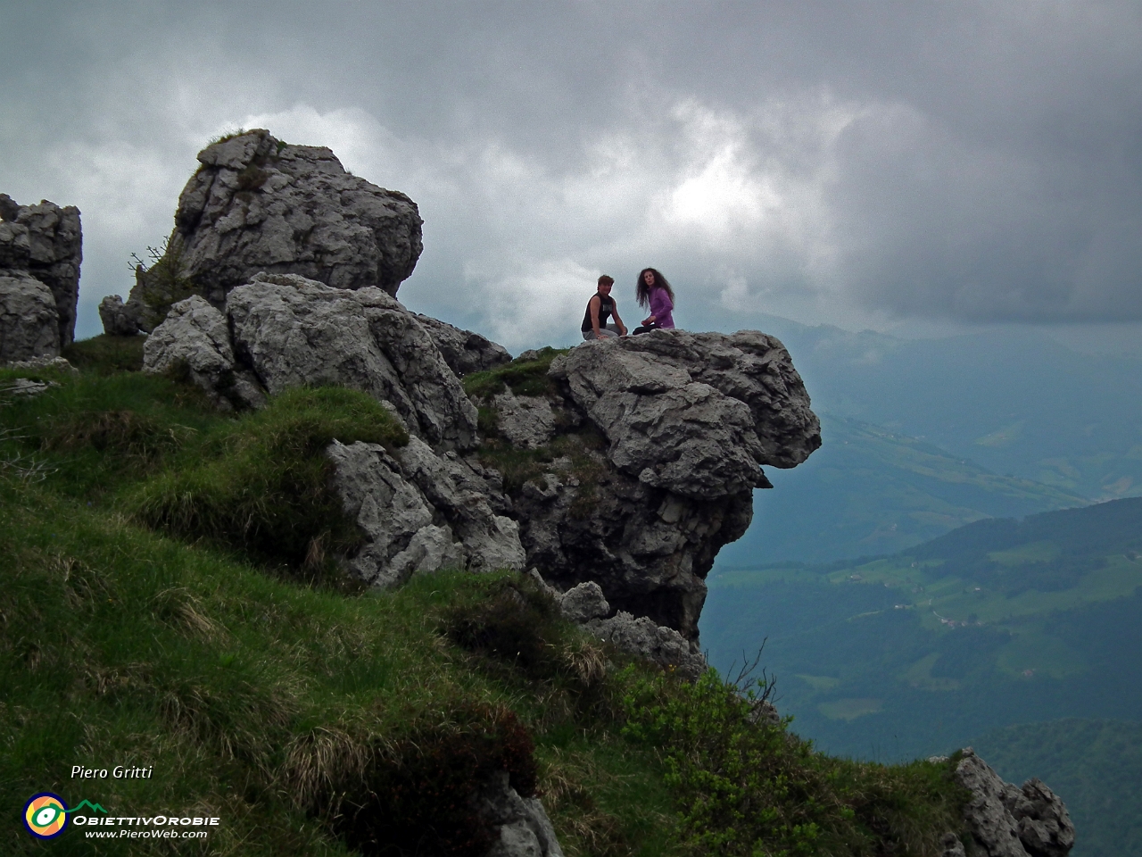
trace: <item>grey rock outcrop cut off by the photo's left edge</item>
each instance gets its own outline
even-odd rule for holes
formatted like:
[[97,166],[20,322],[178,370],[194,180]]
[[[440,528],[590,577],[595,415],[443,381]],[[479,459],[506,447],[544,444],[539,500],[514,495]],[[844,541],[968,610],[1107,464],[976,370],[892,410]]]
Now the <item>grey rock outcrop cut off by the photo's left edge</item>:
[[0,193],[0,362],[57,357],[71,344],[82,261],[78,208],[21,206]]

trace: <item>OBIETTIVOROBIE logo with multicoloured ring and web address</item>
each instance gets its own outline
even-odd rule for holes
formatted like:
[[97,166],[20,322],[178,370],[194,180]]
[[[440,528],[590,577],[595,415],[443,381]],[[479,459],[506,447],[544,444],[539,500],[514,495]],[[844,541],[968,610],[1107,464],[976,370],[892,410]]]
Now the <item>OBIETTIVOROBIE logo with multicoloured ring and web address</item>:
[[[86,815],[74,815],[87,808]],[[106,818],[100,818],[102,812]],[[111,816],[98,803],[80,801],[69,809],[64,799],[51,792],[33,794],[24,804],[24,826],[37,839],[55,839],[67,830],[70,816],[74,815],[77,826],[88,830],[88,839],[206,839],[206,830],[177,830],[178,827],[214,827],[222,820],[204,816]],[[107,830],[107,828],[111,830]],[[139,830],[146,827],[151,830]]]

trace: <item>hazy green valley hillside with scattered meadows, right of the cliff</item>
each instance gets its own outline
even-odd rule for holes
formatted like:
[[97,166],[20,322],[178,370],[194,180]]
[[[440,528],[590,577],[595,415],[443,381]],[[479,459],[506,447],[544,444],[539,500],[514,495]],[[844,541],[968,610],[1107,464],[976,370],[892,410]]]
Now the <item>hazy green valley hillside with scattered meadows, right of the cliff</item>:
[[[1142,499],[989,519],[891,556],[717,570],[702,642],[765,642],[779,705],[833,752],[942,752],[1011,723],[1142,711]],[[872,702],[876,700],[876,702]]]

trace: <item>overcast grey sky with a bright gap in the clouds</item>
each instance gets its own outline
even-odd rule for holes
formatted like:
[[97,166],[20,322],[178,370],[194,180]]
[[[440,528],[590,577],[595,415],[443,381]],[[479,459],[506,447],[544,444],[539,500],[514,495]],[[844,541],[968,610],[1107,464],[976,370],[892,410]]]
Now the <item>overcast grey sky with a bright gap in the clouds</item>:
[[412,197],[399,297],[513,351],[604,272],[637,321],[646,265],[691,329],[1142,321],[1136,0],[0,0],[0,191],[82,211],[80,336],[240,127]]

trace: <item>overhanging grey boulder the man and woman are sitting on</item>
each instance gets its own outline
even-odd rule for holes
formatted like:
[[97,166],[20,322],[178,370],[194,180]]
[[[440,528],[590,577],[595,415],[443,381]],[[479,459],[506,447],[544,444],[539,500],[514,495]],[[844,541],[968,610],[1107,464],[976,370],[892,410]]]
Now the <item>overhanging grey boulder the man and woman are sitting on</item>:
[[[606,433],[614,463],[640,478],[637,468],[645,465],[671,490],[733,494],[759,481],[746,456],[758,465],[795,467],[821,446],[821,424],[810,409],[805,384],[775,337],[757,330],[654,330],[585,345],[555,361],[550,374],[568,382],[576,402]],[[745,421],[741,406],[748,410]],[[730,425],[718,428],[719,417]],[[661,434],[666,425],[679,423],[673,438]],[[715,430],[706,446],[703,430]],[[662,442],[676,446],[682,460],[703,470],[717,466],[725,487],[711,487],[718,480],[706,479],[705,486],[687,481],[681,467],[656,451]],[[731,462],[717,465],[711,458],[717,450]]]

